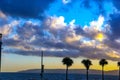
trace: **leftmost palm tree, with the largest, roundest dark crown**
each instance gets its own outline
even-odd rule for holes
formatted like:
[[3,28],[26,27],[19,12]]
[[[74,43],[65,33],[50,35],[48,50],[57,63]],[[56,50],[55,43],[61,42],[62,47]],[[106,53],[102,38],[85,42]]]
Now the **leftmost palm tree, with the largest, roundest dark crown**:
[[63,58],[62,63],[66,65],[66,80],[68,80],[68,67],[72,66],[73,60],[69,57],[65,57]]

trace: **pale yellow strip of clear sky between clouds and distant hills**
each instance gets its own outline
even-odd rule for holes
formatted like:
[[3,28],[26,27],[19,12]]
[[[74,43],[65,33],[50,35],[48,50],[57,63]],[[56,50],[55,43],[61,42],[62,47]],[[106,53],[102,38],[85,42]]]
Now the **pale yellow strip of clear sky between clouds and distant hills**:
[[[9,54],[9,55],[12,55],[12,54]],[[14,62],[16,61],[13,61],[14,59],[12,59],[14,56],[12,55],[11,56],[11,59],[8,59],[8,60],[3,60],[3,64],[2,64],[2,71],[3,72],[17,72],[17,71],[22,71],[22,70],[29,70],[29,69],[41,69],[41,58],[40,57],[36,57],[36,56],[29,56],[30,58],[36,58],[35,60],[31,59],[30,61],[26,61],[22,64],[20,64],[19,62],[22,62],[22,60],[27,60],[26,57],[28,56],[23,56],[23,55],[16,55],[15,57],[20,57],[18,58],[18,61],[16,63],[16,66],[13,66],[15,65]],[[22,58],[22,60],[21,60]],[[44,66],[45,66],[45,69],[65,69],[66,66],[63,65],[62,63],[62,59],[63,58],[60,58],[60,57],[44,57]],[[81,64],[81,60],[83,60],[85,58],[72,58],[72,60],[74,61],[73,65],[69,68],[69,69],[86,69],[84,67],[83,64]],[[79,61],[78,61],[79,60]],[[9,67],[6,66],[6,61],[8,62],[9,61]],[[90,67],[90,69],[92,70],[101,70],[101,66],[99,65],[99,60],[91,60],[92,61],[92,66]],[[117,66],[117,62],[115,61],[111,61],[111,60],[107,60],[108,61],[108,65],[105,65],[105,71],[112,71],[112,70],[118,70],[118,66]],[[110,62],[110,64],[109,64]],[[27,64],[26,64],[27,63]],[[54,64],[54,65],[51,65],[51,64]],[[12,68],[11,69],[11,65],[12,65]]]

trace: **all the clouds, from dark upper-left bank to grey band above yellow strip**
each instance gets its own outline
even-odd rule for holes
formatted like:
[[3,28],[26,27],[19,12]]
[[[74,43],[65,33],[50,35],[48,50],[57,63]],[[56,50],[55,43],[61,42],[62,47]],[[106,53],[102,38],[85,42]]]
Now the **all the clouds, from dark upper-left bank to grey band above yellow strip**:
[[[119,60],[120,14],[117,7],[118,10],[109,16],[109,23],[106,23],[104,16],[100,15],[97,20],[85,26],[76,25],[76,19],[65,22],[64,16],[47,16],[38,22],[33,19],[10,16],[42,17],[53,0],[38,5],[37,2],[40,1],[36,0],[33,3],[30,1],[28,4],[27,0],[18,1],[24,2],[23,4],[18,4],[17,1],[12,2],[12,0],[0,1],[2,4],[0,5],[0,33],[3,33],[3,53],[40,56],[41,50],[44,50],[45,56],[83,56],[91,59]],[[70,5],[74,0],[67,1],[65,4]],[[86,1],[88,2],[85,6],[90,8],[91,2]],[[3,7],[3,4],[6,7]],[[14,5],[11,6],[12,4]],[[101,5],[103,2],[97,2],[97,4]],[[23,9],[24,5],[26,8]],[[14,9],[18,11],[14,12]],[[35,9],[37,11],[34,12]]]

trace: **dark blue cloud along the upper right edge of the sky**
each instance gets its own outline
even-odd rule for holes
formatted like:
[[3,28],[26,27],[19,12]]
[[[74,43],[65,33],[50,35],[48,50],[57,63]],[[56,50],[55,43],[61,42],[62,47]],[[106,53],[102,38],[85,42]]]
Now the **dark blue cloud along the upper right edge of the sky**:
[[[110,20],[109,24],[111,26],[111,32],[112,34],[109,34],[109,39],[114,42],[114,44],[117,44],[115,42],[115,39],[120,38],[120,1],[119,0],[111,0],[114,7],[118,10],[112,14],[110,14]],[[111,42],[110,42],[111,43]],[[117,45],[116,45],[117,46]]]

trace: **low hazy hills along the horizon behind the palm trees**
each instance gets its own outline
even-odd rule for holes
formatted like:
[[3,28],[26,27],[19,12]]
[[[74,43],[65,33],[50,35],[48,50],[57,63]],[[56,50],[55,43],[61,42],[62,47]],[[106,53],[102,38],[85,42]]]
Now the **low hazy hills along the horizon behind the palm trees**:
[[[62,73],[65,74],[66,69],[45,69],[44,74],[54,74],[54,73]],[[119,70],[110,70],[110,71],[104,71],[105,75],[111,75],[111,76],[118,76]],[[8,72],[4,72],[8,73]],[[41,69],[28,69],[28,70],[22,70],[18,72],[13,73],[41,73]],[[86,69],[69,69],[69,74],[86,74]],[[90,69],[89,75],[101,75],[101,70],[95,70]]]

